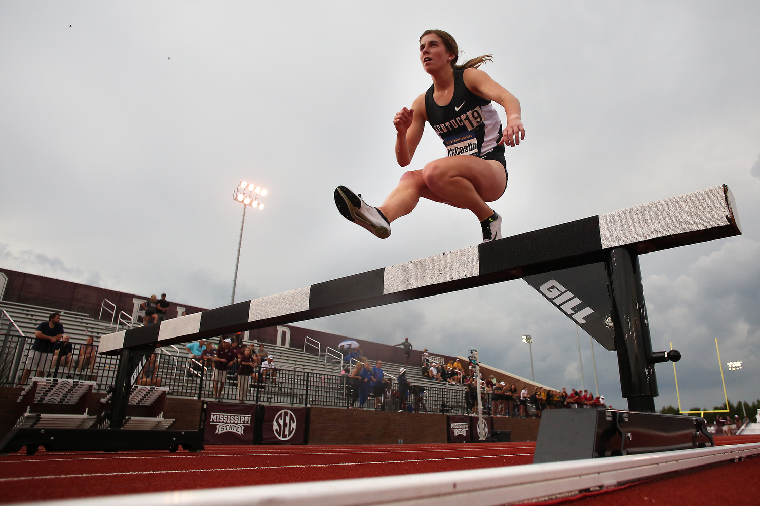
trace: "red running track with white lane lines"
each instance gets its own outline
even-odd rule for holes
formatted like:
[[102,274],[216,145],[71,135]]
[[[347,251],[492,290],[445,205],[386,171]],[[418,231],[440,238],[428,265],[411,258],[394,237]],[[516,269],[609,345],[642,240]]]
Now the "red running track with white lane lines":
[[[719,445],[760,442],[760,436],[719,437],[716,442]],[[0,457],[3,489],[0,503],[513,466],[530,464],[534,447],[534,443],[520,442],[209,446],[195,454],[186,451],[175,454],[166,451],[117,454],[40,451],[27,456],[18,453]],[[610,492],[620,493],[625,491]],[[580,502],[594,500],[584,498]]]

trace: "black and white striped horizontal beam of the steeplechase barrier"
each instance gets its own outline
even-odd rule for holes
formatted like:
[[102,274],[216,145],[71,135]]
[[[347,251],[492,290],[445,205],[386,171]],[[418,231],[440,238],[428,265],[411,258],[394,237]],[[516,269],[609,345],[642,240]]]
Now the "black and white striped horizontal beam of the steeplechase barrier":
[[445,294],[601,262],[613,248],[650,253],[739,234],[733,196],[717,186],[116,332],[100,339],[98,352],[167,346]]

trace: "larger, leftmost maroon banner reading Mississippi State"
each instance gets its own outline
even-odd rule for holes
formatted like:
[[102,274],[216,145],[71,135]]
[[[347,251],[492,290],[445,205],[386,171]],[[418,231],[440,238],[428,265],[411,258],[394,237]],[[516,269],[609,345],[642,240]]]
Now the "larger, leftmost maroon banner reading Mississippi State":
[[210,402],[206,407],[204,445],[253,445],[253,404]]

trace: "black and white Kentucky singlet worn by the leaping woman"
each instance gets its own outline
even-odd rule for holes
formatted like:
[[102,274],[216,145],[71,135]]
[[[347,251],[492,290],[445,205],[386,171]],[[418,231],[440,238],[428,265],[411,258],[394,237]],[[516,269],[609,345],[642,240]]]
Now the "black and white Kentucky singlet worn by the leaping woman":
[[473,155],[496,160],[506,168],[499,114],[486,100],[472,93],[464,84],[464,69],[454,70],[454,93],[447,105],[432,98],[435,84],[425,93],[428,122],[443,140],[448,156]]

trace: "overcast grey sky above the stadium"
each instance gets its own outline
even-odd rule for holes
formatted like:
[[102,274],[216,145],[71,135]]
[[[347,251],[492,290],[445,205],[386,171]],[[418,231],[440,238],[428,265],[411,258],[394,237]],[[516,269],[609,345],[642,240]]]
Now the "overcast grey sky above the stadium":
[[[71,25],[71,26],[70,26]],[[0,2],[0,266],[215,307],[480,242],[422,202],[388,240],[334,208],[382,203],[404,169],[393,116],[430,85],[417,40],[447,30],[521,101],[492,206],[512,235],[727,184],[743,236],[641,257],[653,347],[682,407],[760,397],[758,2]],[[502,121],[503,110],[500,110]],[[428,127],[410,168],[445,155]],[[524,281],[298,325],[580,388],[575,326]],[[584,384],[595,389],[581,331]],[[620,398],[595,344],[600,391]],[[657,407],[676,404],[657,366]]]

